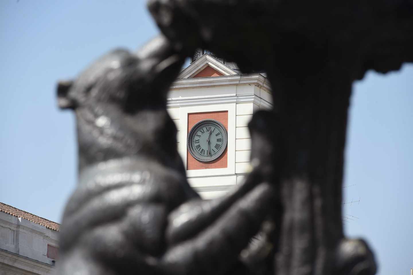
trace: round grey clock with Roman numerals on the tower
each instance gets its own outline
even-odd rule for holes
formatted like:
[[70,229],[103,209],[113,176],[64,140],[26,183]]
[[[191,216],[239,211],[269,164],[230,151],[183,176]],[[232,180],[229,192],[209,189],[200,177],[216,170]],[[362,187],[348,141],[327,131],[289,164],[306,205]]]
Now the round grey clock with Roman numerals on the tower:
[[216,120],[201,120],[188,133],[188,150],[200,161],[218,158],[225,151],[227,142],[227,130]]

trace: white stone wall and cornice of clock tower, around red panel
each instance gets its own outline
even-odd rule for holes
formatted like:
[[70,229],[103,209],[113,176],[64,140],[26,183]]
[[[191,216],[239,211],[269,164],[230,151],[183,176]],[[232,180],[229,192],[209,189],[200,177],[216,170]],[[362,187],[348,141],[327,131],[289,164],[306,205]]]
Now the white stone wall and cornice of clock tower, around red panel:
[[[202,198],[222,196],[240,184],[249,170],[251,136],[248,122],[260,109],[272,108],[265,78],[260,75],[178,79],[168,96],[168,112],[178,129],[178,152],[186,167],[188,113],[228,110],[228,168],[187,171],[188,182]],[[214,80],[217,80],[214,82]],[[261,82],[260,82],[261,81]],[[208,83],[208,86],[205,83]],[[232,85],[231,85],[232,84]]]

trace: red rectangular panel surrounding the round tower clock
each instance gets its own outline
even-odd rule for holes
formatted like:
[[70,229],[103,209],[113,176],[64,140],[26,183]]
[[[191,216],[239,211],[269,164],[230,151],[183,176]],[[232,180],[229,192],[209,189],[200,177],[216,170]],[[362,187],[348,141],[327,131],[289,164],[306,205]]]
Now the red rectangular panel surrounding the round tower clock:
[[[221,122],[225,129],[228,132],[228,111],[217,111],[217,112],[193,112],[188,114],[188,129],[187,129],[187,137],[188,133],[191,130],[192,126],[195,125],[195,123],[199,122],[200,120],[206,120],[206,119],[212,119],[212,120],[218,120]],[[187,143],[187,139],[184,141]],[[188,151],[187,148],[187,162],[186,162],[186,170],[198,170],[198,169],[213,169],[213,168],[226,168],[228,167],[228,152],[227,148],[225,148],[225,151],[222,153],[222,155],[211,161],[199,161],[195,159]]]

